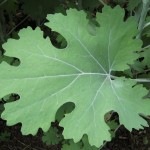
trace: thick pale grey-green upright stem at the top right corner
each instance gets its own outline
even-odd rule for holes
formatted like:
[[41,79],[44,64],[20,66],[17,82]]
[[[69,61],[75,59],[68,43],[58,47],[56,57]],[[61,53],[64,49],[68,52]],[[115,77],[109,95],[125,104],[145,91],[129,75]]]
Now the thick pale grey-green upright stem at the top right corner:
[[141,34],[145,25],[145,18],[147,16],[149,5],[150,5],[150,0],[143,0],[142,12],[141,12],[140,20],[139,20],[139,25],[138,25],[138,30],[139,30],[139,34],[137,35],[138,39],[141,38]]

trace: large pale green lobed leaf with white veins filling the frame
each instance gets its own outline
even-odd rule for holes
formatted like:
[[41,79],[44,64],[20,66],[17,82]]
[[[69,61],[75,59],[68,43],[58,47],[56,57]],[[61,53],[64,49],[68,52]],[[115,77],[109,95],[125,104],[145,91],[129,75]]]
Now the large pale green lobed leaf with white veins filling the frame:
[[[104,115],[118,112],[120,123],[129,130],[147,126],[140,113],[150,114],[150,101],[143,99],[147,90],[132,79],[113,77],[112,71],[124,71],[138,58],[141,48],[135,39],[133,18],[123,21],[124,10],[105,6],[97,14],[100,27],[91,35],[83,11],[68,10],[48,15],[46,23],[67,40],[64,49],[55,48],[43,38],[39,28],[20,31],[19,40],[10,39],[3,48],[6,55],[17,57],[21,64],[0,65],[0,97],[17,93],[20,100],[5,105],[2,118],[8,125],[22,123],[23,134],[49,129],[57,110],[67,102],[75,109],[60,122],[65,138],[79,141],[88,135],[91,145],[99,147],[110,140]],[[113,79],[112,79],[113,78]],[[136,86],[135,86],[136,85]]]

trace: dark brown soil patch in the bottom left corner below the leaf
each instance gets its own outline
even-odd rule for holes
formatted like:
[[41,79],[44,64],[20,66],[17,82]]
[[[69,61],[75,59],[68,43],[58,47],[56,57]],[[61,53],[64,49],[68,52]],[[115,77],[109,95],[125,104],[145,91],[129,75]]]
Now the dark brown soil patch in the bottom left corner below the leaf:
[[42,132],[36,136],[21,134],[21,126],[6,126],[6,122],[0,119],[0,134],[2,132],[10,133],[10,137],[5,141],[0,141],[0,150],[60,150],[60,145],[46,146],[42,142]]

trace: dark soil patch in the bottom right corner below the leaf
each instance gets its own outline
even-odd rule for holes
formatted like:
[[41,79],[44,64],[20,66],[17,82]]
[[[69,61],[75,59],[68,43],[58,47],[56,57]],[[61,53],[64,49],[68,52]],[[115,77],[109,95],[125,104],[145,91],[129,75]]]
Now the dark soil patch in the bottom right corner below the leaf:
[[122,126],[102,150],[150,150],[150,128],[130,133]]

